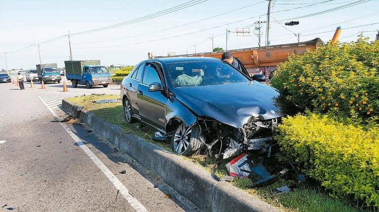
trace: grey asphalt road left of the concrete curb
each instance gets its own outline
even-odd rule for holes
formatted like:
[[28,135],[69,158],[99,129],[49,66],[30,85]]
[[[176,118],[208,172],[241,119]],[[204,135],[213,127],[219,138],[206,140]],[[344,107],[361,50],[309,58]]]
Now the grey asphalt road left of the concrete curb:
[[54,120],[62,98],[120,94],[120,85],[72,88],[63,77],[45,86],[0,83],[0,211],[199,211],[85,125]]

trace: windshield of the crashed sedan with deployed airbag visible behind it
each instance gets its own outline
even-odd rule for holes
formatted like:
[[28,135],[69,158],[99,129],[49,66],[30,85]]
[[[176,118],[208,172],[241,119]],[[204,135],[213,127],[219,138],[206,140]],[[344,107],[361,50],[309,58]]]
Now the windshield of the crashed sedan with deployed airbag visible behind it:
[[248,82],[243,74],[222,61],[191,61],[167,64],[173,87]]

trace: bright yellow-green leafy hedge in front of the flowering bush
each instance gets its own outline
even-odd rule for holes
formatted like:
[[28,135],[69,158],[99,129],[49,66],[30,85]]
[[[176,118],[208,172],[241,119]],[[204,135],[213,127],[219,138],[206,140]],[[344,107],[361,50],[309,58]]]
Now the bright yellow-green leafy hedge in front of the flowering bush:
[[307,175],[335,197],[379,206],[379,128],[363,130],[325,115],[287,117],[275,137],[283,161],[306,162]]

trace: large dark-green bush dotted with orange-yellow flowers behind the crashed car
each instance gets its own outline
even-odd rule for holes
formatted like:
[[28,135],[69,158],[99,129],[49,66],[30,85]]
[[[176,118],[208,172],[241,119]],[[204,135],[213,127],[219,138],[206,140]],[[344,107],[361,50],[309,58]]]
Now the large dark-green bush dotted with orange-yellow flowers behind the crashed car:
[[327,43],[304,55],[292,55],[274,72],[272,86],[300,111],[361,118],[379,110],[379,41]]

